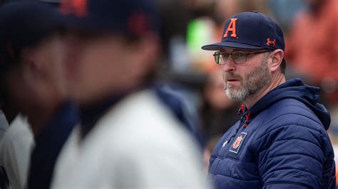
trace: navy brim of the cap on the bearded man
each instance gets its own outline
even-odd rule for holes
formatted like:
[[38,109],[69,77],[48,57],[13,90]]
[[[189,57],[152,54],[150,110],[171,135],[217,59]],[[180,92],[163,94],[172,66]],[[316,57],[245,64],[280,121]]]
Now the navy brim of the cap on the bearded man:
[[210,45],[204,45],[202,47],[203,50],[221,50],[222,48],[239,48],[239,49],[252,49],[252,50],[264,49],[264,47],[261,47],[261,46],[247,45],[245,43],[237,43],[237,42],[231,42],[231,41],[213,43]]

